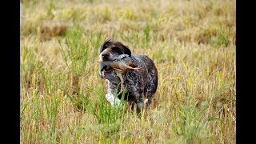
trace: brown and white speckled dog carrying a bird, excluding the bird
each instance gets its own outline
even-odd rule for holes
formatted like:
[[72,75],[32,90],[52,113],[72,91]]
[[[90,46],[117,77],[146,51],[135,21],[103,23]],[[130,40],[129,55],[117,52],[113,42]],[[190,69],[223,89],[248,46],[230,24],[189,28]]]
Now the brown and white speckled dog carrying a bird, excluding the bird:
[[[127,54],[134,67],[138,70],[126,69],[122,72],[123,85],[126,87],[125,100],[135,103],[137,113],[150,106],[152,98],[158,87],[158,70],[154,62],[146,55],[131,54],[128,46],[122,42],[113,41],[111,38],[102,43],[99,52],[99,75],[106,81],[106,100],[112,106],[120,103],[121,79],[118,78],[115,70],[111,67],[120,55]],[[116,91],[117,90],[117,91]],[[118,92],[118,93],[117,93]],[[118,98],[114,96],[118,94]]]

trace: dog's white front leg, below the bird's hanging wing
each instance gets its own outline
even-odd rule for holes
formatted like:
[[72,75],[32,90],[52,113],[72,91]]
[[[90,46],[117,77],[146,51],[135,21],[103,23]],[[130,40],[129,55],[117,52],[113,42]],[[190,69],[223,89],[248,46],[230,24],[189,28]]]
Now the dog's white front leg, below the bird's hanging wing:
[[106,100],[110,102],[111,106],[120,106],[121,100],[114,96],[114,90],[117,89],[117,85],[114,82],[110,82],[106,79]]

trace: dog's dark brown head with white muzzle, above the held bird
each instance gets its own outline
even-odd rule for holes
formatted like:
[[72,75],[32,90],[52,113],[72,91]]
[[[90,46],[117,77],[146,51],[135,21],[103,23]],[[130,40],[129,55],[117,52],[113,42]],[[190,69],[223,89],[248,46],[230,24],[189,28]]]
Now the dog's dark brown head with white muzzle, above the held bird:
[[129,57],[131,55],[128,46],[123,45],[122,42],[114,42],[110,38],[102,43],[99,53],[99,61],[114,61],[120,54],[128,54]]

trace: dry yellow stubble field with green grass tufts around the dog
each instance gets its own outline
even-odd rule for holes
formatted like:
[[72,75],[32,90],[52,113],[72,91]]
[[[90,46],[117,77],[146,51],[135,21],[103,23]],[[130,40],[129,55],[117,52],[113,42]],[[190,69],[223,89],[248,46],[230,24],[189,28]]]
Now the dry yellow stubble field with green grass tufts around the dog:
[[[234,0],[22,0],[21,143],[235,143]],[[142,118],[106,102],[106,38],[146,54],[158,90]]]

